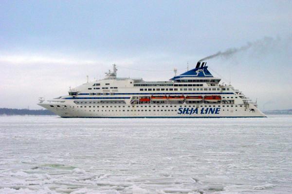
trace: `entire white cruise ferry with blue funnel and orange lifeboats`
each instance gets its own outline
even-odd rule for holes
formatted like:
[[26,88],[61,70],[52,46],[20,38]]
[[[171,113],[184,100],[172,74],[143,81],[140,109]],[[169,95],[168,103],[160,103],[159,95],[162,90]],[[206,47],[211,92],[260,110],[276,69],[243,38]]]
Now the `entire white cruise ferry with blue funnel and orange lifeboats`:
[[70,88],[66,96],[40,98],[38,105],[61,117],[265,117],[241,91],[220,81],[206,62],[169,81],[118,78],[113,65],[104,79]]

